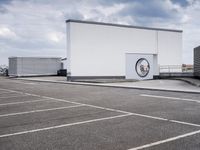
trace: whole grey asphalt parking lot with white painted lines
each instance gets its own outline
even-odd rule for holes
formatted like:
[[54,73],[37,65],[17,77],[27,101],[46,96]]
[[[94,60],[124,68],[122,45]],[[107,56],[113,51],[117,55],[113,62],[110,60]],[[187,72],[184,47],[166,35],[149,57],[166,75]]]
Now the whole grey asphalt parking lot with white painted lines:
[[199,150],[200,95],[0,78],[0,149]]

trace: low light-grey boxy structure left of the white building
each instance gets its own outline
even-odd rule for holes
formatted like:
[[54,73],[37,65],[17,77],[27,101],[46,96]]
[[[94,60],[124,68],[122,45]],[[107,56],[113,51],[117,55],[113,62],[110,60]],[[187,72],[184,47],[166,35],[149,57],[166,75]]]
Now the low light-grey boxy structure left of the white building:
[[9,76],[56,75],[61,69],[61,58],[13,57],[9,62]]

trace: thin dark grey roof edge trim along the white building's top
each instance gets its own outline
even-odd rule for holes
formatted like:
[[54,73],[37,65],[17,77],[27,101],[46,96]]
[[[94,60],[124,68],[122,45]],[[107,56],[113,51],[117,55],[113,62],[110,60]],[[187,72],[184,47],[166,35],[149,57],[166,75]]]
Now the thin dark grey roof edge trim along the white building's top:
[[85,24],[95,24],[95,25],[106,25],[106,26],[115,26],[115,27],[125,27],[125,28],[136,28],[136,29],[145,29],[145,30],[183,32],[183,30],[174,30],[174,29],[141,27],[141,26],[133,26],[133,25],[123,25],[123,24],[114,24],[114,23],[105,23],[105,22],[95,22],[95,21],[83,21],[83,20],[75,20],[75,19],[68,19],[68,20],[66,20],[66,23],[69,23],[69,22],[85,23]]

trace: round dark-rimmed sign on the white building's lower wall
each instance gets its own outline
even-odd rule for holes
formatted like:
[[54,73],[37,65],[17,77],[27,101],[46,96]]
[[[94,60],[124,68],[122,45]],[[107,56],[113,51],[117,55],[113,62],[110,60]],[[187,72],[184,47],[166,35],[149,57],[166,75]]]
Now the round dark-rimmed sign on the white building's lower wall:
[[140,77],[146,77],[150,70],[149,62],[145,58],[140,58],[135,64],[135,70]]

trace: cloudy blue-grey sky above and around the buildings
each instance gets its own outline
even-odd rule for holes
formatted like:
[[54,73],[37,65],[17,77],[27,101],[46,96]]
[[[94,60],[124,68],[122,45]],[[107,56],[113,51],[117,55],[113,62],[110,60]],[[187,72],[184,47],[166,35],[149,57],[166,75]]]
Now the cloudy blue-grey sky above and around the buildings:
[[183,30],[183,63],[200,45],[200,0],[0,0],[0,64],[66,56],[67,19]]

